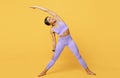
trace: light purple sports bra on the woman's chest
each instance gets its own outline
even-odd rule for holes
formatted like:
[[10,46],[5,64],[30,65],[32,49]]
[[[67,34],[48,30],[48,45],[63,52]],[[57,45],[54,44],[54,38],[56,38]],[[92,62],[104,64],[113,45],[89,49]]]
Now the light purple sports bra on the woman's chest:
[[61,35],[68,29],[68,27],[66,26],[66,24],[64,22],[58,22],[58,27],[56,27],[56,28],[53,27],[52,29],[58,35]]

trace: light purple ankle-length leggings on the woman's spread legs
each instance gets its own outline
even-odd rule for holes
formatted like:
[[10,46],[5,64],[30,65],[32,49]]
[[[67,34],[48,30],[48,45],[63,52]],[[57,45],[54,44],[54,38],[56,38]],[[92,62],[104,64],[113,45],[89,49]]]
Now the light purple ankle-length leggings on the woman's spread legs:
[[74,53],[74,55],[78,59],[79,63],[86,69],[87,65],[82,59],[81,55],[79,54],[78,47],[70,35],[67,35],[65,37],[59,37],[54,57],[47,65],[46,69],[50,69],[55,64],[56,60],[58,59],[59,55],[61,54],[65,46],[68,46],[70,48],[70,50]]

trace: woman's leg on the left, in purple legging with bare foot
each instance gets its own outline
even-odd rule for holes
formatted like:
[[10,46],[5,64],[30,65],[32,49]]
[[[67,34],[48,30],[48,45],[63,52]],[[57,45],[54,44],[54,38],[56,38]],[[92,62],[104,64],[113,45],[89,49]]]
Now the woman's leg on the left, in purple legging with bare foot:
[[38,75],[39,77],[41,77],[43,75],[46,75],[46,72],[55,64],[56,60],[60,56],[60,54],[63,51],[64,47],[65,47],[65,45],[61,41],[58,41],[58,43],[56,45],[54,57],[48,63],[48,65],[46,66],[46,68],[40,73],[40,75]]

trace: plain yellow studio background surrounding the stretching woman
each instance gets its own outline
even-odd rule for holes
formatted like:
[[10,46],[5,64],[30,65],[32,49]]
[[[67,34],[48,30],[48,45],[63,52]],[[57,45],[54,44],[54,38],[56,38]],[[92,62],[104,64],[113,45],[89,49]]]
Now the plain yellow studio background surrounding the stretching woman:
[[118,0],[1,0],[0,78],[37,78],[52,56],[47,13],[55,11],[68,25],[80,53],[95,72],[89,76],[66,47],[42,78],[120,78],[120,11]]

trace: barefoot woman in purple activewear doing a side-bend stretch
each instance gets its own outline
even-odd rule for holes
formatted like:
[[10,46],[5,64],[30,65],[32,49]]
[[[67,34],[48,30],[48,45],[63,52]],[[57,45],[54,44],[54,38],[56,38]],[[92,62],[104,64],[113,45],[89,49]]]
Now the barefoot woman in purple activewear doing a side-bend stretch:
[[[96,75],[88,68],[85,61],[81,57],[81,55],[79,53],[79,49],[77,48],[76,43],[73,41],[73,39],[70,35],[69,28],[64,23],[64,21],[55,12],[53,12],[47,8],[43,8],[41,6],[32,6],[30,8],[40,9],[40,10],[47,12],[48,14],[53,16],[53,17],[47,16],[44,20],[44,23],[47,26],[51,26],[50,33],[51,33],[52,40],[53,40],[53,43],[52,43],[53,50],[52,51],[54,52],[54,55],[53,55],[53,58],[51,59],[51,61],[46,66],[46,68],[38,75],[38,77],[46,75],[46,72],[55,64],[56,60],[58,59],[59,55],[61,54],[61,52],[63,51],[65,46],[68,46],[70,48],[70,50],[74,53],[74,55],[78,59],[79,63],[84,67],[87,74]],[[58,34],[58,36],[59,36],[57,44],[56,44],[55,33]]]

